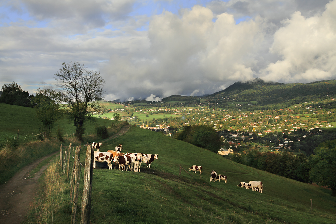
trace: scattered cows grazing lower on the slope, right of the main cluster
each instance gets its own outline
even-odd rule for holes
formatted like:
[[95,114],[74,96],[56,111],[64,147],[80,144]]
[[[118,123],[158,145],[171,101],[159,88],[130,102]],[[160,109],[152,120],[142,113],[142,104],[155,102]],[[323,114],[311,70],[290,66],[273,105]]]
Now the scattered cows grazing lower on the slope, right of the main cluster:
[[[200,172],[200,175],[203,172],[203,167],[202,166],[192,166],[189,168],[189,172],[190,171],[194,171],[194,173],[196,173],[196,171]],[[210,176],[210,182],[215,182],[219,180],[224,180],[225,183],[227,181],[227,176],[224,176],[222,174],[217,174],[216,171],[212,171],[211,172],[211,176]],[[239,187],[245,187],[246,189],[252,189],[253,191],[258,191],[259,193],[262,193],[262,182],[261,181],[253,181],[251,180],[250,182],[246,183],[246,182],[240,182],[237,186]]]

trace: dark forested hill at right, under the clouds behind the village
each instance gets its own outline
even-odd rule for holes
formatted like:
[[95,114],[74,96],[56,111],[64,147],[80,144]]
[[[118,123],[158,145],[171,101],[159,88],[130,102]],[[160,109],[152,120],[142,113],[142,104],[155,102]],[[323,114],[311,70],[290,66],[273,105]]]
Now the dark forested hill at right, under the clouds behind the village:
[[218,100],[257,101],[259,105],[295,104],[336,97],[336,80],[311,83],[265,82],[262,79],[236,82],[225,90],[209,95]]

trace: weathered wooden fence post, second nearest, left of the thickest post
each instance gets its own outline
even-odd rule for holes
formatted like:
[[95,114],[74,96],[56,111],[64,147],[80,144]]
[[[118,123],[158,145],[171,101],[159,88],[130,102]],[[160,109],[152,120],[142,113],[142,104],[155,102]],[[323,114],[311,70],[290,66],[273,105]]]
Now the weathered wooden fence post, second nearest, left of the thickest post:
[[[77,201],[78,201],[78,189],[79,189],[79,177],[80,177],[80,172],[81,172],[81,167],[79,164],[79,152],[80,152],[81,147],[77,146],[76,147],[76,154],[75,154],[75,169],[74,169],[74,193],[73,193],[73,198],[72,198],[72,213],[71,213],[71,223],[75,224],[76,223],[76,214],[77,214]],[[72,191],[71,191],[72,192]],[[71,193],[70,192],[70,193]],[[71,197],[71,194],[70,194]]]

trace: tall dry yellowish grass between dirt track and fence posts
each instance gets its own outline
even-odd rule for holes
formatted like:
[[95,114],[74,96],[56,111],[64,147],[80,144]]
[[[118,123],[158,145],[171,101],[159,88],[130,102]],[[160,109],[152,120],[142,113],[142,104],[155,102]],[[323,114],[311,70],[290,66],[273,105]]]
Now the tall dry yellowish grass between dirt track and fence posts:
[[[37,200],[35,220],[39,224],[55,223],[54,218],[60,208],[66,203],[66,183],[61,178],[59,164],[53,162],[45,171],[42,193]],[[35,222],[35,223],[36,223]]]

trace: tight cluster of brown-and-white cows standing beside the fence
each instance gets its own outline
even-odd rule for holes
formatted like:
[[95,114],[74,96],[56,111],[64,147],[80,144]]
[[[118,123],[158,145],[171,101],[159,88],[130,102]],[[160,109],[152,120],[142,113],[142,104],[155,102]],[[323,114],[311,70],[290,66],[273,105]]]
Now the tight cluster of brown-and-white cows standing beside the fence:
[[115,148],[115,151],[108,150],[107,152],[99,152],[101,143],[92,143],[91,145],[96,151],[93,152],[94,163],[93,169],[96,168],[96,162],[107,162],[109,170],[112,170],[112,163],[114,169],[119,165],[119,170],[126,171],[128,168],[134,172],[140,172],[141,163],[146,163],[147,167],[151,168],[151,163],[158,159],[157,154],[143,154],[143,153],[122,153],[123,145],[120,144]]

